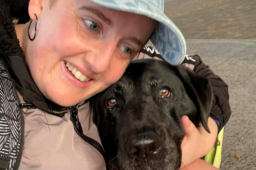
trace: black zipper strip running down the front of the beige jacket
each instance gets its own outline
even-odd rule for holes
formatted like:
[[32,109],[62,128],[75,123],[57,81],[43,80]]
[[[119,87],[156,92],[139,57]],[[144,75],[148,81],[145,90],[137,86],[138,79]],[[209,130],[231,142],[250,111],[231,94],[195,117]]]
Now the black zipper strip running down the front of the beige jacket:
[[103,156],[103,158],[105,159],[105,152],[103,147],[94,139],[92,139],[91,137],[88,137],[86,135],[83,134],[83,130],[82,130],[82,126],[79,122],[79,118],[78,118],[78,110],[77,110],[78,105],[75,106],[75,108],[72,110],[71,113],[71,121],[73,123],[75,132],[78,134],[78,136],[80,136],[84,141],[86,141],[87,143],[89,143],[90,145],[92,145],[95,149],[97,149],[99,151],[99,153]]

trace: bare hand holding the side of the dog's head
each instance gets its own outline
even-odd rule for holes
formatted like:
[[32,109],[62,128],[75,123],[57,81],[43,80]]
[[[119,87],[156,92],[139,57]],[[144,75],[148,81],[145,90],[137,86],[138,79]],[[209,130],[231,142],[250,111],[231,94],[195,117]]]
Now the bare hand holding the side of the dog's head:
[[181,143],[181,168],[183,168],[189,163],[205,156],[211,150],[216,141],[218,127],[210,117],[208,119],[208,127],[211,133],[208,133],[201,123],[197,129],[188,116],[182,116],[181,122],[185,131],[185,136]]

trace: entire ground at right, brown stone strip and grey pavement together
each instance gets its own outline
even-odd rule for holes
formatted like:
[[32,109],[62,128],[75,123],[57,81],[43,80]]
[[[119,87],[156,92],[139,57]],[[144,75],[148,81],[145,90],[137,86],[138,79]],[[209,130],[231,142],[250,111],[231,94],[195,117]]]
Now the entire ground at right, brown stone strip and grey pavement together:
[[[256,170],[256,0],[165,0],[165,13],[229,85],[222,170]],[[242,159],[234,156],[239,154]]]

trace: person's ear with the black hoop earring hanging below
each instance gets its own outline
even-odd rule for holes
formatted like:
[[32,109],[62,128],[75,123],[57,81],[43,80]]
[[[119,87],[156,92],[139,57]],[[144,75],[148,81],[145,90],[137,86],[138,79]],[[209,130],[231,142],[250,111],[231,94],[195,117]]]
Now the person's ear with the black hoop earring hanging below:
[[35,14],[37,14],[37,17],[39,18],[44,5],[48,1],[50,0],[30,0],[29,1],[29,17],[32,20],[36,20]]

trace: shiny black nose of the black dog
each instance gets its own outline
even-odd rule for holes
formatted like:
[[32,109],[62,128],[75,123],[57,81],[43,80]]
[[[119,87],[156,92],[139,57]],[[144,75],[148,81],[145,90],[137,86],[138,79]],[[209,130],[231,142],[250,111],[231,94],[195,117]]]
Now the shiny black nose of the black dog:
[[129,158],[143,161],[153,159],[161,148],[162,144],[159,135],[153,131],[132,135],[125,144]]

